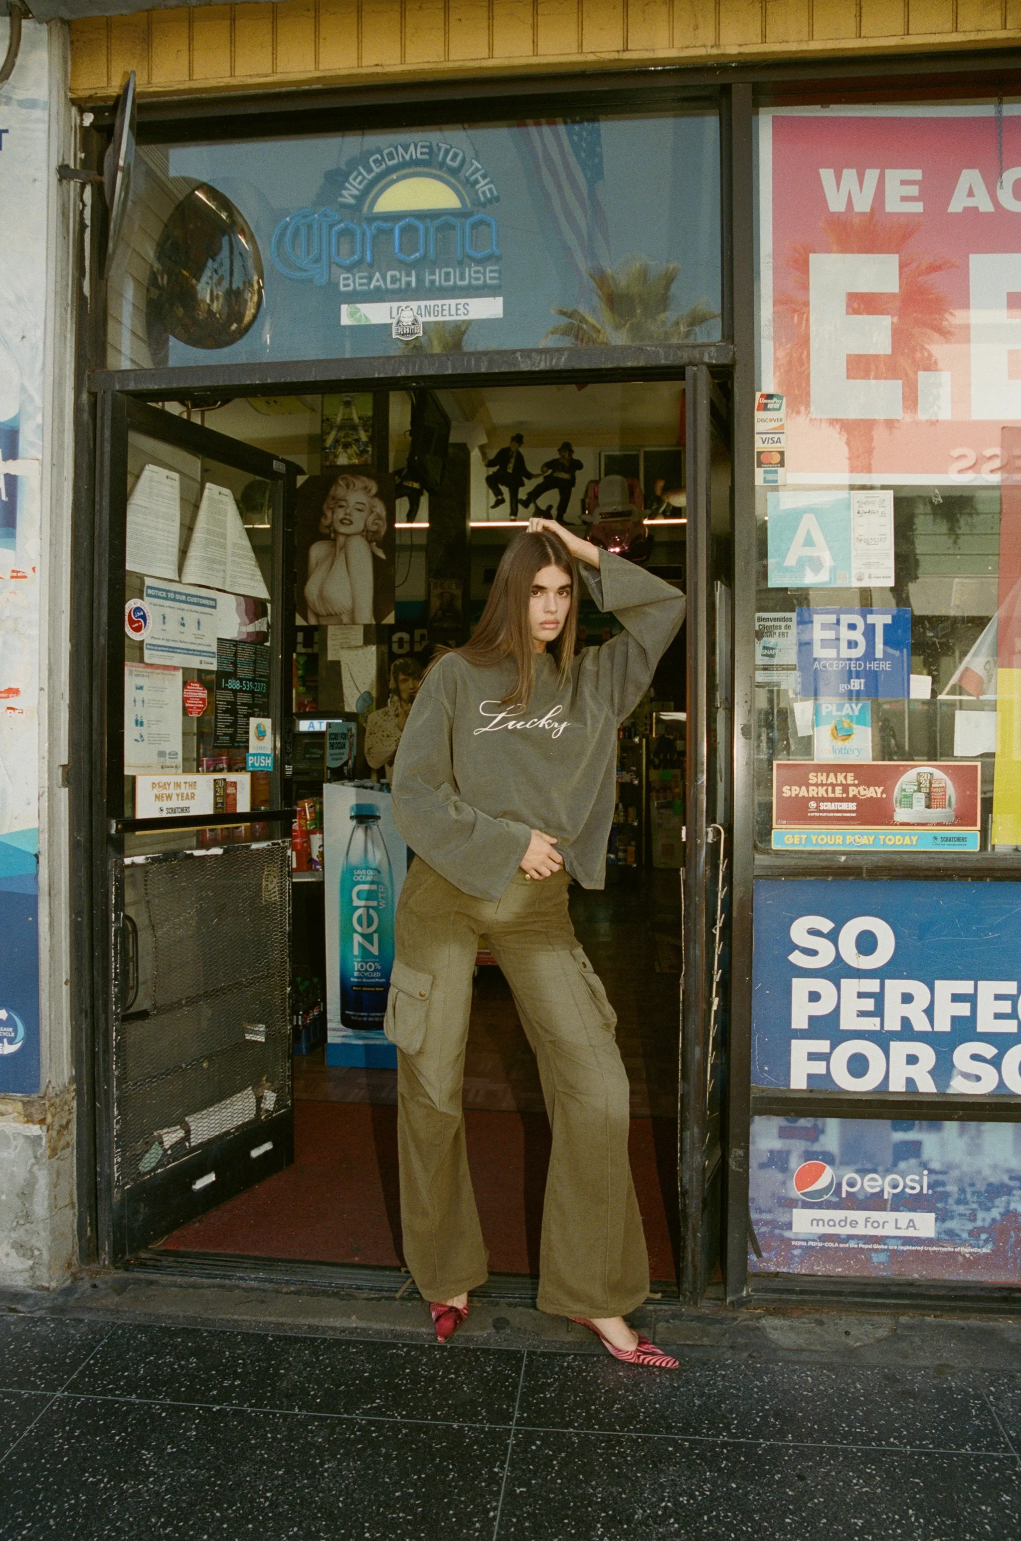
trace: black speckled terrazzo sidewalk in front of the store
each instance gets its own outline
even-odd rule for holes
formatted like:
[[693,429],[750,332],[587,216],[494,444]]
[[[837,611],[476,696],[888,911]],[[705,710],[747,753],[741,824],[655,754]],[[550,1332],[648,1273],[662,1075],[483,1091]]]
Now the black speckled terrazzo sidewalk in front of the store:
[[3,1541],[1021,1535],[1013,1324],[648,1311],[656,1375],[490,1301],[440,1348],[417,1301],[239,1328],[160,1299],[0,1304]]

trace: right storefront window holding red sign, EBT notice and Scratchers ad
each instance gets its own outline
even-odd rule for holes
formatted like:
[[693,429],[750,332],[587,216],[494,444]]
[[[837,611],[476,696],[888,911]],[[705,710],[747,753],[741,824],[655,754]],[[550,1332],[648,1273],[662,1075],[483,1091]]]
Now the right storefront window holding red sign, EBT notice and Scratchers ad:
[[1019,112],[759,116],[761,849],[1021,846]]

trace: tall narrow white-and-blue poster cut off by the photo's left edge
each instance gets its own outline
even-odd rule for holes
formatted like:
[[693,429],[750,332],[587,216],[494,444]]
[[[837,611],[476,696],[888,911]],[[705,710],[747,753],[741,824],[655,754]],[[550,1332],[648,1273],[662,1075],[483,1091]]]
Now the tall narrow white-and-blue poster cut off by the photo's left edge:
[[[0,1093],[38,1091],[38,553],[46,336],[46,28],[0,86]],[[62,339],[57,337],[57,347]]]

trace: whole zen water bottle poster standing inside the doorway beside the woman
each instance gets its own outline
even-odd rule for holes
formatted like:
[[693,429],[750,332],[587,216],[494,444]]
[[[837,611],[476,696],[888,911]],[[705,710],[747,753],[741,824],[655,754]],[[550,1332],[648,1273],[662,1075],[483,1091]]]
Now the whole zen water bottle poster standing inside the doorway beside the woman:
[[408,848],[377,784],[323,786],[326,1062],[394,1065],[383,1016]]

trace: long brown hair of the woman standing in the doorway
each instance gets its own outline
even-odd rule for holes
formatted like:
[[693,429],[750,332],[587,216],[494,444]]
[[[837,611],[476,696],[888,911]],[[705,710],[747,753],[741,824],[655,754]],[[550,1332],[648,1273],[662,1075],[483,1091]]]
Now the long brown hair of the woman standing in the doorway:
[[537,572],[544,567],[559,567],[571,579],[571,607],[567,612],[564,630],[550,643],[556,658],[559,681],[564,684],[571,672],[574,643],[577,640],[577,562],[564,541],[545,532],[522,530],[510,542],[485,601],[485,610],[474,633],[464,647],[456,647],[470,664],[491,669],[510,660],[516,678],[500,706],[527,706],[536,683],[536,649],[528,626],[528,601]]

